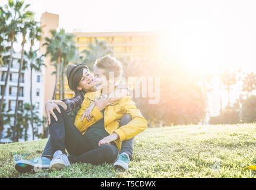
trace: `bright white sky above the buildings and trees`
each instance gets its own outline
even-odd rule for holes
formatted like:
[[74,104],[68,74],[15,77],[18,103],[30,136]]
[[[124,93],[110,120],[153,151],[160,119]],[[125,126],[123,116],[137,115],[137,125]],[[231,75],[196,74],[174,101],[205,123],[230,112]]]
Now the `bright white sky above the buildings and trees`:
[[[25,0],[40,21],[59,14],[72,32],[166,31],[162,47],[195,71],[229,68],[256,72],[256,1],[248,0]],[[0,0],[0,5],[7,0]],[[218,83],[216,82],[216,86]],[[233,99],[238,95],[234,87]],[[224,96],[224,95],[223,95]],[[226,97],[226,95],[225,95]],[[219,100],[213,100],[219,101]]]

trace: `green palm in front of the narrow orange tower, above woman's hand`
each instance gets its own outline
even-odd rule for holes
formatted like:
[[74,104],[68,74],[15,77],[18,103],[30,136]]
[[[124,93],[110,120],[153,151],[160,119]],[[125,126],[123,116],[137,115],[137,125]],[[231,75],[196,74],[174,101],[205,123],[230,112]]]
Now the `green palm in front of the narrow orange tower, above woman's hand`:
[[[67,46],[67,42],[65,41],[65,30],[61,29],[58,33],[56,30],[50,30],[50,33],[52,34],[52,38],[46,37],[46,43],[43,45],[46,45],[46,53],[45,55],[50,55],[51,62],[55,62],[57,64],[56,68],[56,81],[55,81],[55,90],[53,91],[53,97],[52,99],[56,99],[56,90],[57,85],[59,82],[59,75],[61,74],[61,59],[62,59],[62,53],[64,51],[64,48]],[[59,96],[60,98],[60,96]]]

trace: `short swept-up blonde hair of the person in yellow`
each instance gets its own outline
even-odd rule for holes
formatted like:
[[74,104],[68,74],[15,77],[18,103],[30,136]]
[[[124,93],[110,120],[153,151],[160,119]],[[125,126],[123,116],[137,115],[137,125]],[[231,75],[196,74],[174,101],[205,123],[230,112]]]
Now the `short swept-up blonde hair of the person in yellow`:
[[123,72],[123,67],[121,62],[119,62],[116,58],[112,58],[110,55],[103,56],[101,58],[97,58],[94,62],[95,67],[99,67],[105,69],[106,78],[109,80],[109,72],[114,72],[115,77],[120,77]]

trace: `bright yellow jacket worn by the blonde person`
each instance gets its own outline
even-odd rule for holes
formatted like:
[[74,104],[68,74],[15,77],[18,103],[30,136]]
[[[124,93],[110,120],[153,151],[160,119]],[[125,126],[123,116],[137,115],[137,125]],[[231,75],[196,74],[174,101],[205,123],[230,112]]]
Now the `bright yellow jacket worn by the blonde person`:
[[[95,96],[100,97],[100,93],[100,90],[98,90],[95,92],[86,93],[84,96],[81,109],[78,111],[75,118],[75,126],[77,126],[78,130],[82,134],[86,133],[86,129],[89,128],[89,126],[95,124],[97,121],[103,118],[103,113],[98,107],[95,106],[91,112],[91,121],[89,122],[86,118],[84,118],[81,122],[84,111],[92,103],[94,103]],[[127,125],[119,127],[119,119],[121,119],[125,114],[131,115],[132,121],[130,121]],[[143,118],[140,110],[137,109],[135,103],[129,96],[122,97],[122,99],[119,101],[114,102],[105,108],[104,122],[105,129],[109,134],[116,132],[119,135],[119,139],[115,141],[119,150],[121,149],[122,141],[135,137],[147,127],[146,119]]]

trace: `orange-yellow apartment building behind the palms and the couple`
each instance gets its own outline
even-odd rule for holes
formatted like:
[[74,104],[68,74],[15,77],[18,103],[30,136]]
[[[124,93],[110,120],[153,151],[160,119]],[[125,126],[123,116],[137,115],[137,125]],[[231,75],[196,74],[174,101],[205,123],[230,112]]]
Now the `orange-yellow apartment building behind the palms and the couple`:
[[[45,12],[41,17],[41,26],[43,29],[44,37],[49,37],[50,29],[58,28],[59,15]],[[124,32],[77,32],[74,31],[75,42],[78,50],[81,52],[84,49],[89,49],[89,44],[94,43],[94,40],[106,40],[108,46],[112,47],[116,58],[129,56],[140,62],[158,61],[159,60],[159,33],[153,31],[124,31]],[[43,40],[40,42],[40,49],[45,52],[43,47]],[[48,66],[45,72],[45,102],[52,99],[54,90],[55,77],[50,75],[54,68],[51,66],[49,57],[45,59],[45,64]],[[71,98],[74,93],[69,90],[68,81],[65,77],[65,98]],[[56,92],[56,99],[59,99],[59,92]]]

